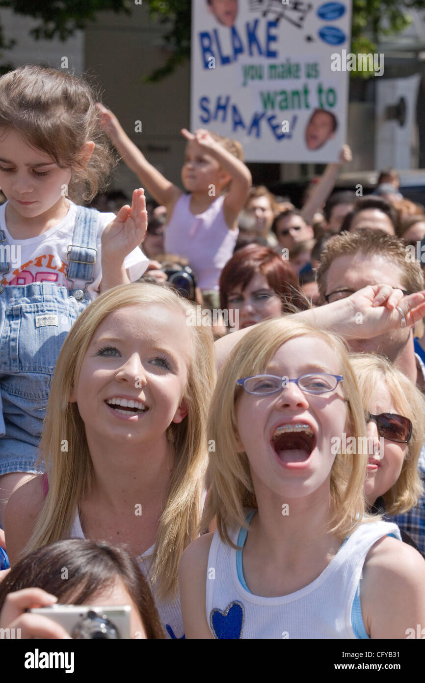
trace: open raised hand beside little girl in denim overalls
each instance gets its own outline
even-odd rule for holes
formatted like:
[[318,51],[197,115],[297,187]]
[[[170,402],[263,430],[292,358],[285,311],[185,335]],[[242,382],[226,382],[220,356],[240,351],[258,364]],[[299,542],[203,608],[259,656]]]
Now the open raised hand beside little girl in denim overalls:
[[102,262],[122,264],[125,257],[141,244],[147,229],[145,190],[134,190],[132,205],[123,206],[102,232]]

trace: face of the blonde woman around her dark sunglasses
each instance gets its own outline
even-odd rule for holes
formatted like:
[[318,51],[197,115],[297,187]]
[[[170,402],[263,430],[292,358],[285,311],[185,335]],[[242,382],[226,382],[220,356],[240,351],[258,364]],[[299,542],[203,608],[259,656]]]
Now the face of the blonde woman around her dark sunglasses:
[[[380,413],[403,415],[402,411],[396,407],[390,390],[383,381],[375,389],[374,400],[368,406],[368,411],[372,415],[379,415]],[[377,423],[370,421],[367,429],[370,443],[379,441]],[[407,452],[407,443],[396,443],[384,438],[383,457],[381,453],[379,457],[372,455],[368,457],[364,497],[369,505],[373,505],[380,496],[383,496],[384,493],[394,486],[398,477],[400,477],[402,464],[407,456]]]

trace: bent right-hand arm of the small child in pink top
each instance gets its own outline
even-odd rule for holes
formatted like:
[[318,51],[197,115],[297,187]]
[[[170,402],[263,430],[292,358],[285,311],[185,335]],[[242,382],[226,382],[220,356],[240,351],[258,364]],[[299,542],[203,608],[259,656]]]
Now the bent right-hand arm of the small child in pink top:
[[199,128],[193,135],[186,128],[183,128],[181,134],[188,140],[196,141],[204,152],[214,156],[223,171],[230,176],[230,189],[224,197],[223,208],[227,225],[233,227],[237,215],[244,208],[248,191],[252,185],[250,170],[243,161],[233,156],[219,142],[214,140],[207,130]]

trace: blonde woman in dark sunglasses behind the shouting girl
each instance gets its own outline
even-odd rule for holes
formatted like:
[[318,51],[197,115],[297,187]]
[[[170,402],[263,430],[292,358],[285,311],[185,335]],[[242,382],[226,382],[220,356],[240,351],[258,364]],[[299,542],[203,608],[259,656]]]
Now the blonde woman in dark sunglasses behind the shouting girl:
[[[369,443],[364,495],[372,512],[385,518],[407,512],[422,496],[417,470],[425,440],[425,401],[422,393],[404,373],[384,357],[352,354],[366,408]],[[383,452],[378,447],[383,439]],[[402,540],[416,548],[407,533]]]

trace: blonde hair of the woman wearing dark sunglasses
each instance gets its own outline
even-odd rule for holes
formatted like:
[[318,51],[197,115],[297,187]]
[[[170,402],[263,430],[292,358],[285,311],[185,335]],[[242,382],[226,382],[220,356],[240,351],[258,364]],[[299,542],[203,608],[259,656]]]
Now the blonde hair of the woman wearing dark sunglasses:
[[383,494],[387,514],[395,515],[400,514],[400,512],[407,512],[411,507],[417,505],[417,501],[423,495],[417,462],[425,438],[424,397],[404,372],[397,370],[383,356],[369,353],[351,354],[350,361],[357,378],[357,384],[360,387],[365,410],[368,410],[370,404],[373,404],[379,386],[385,383],[396,410],[400,415],[408,417],[413,425],[400,476],[390,490]]

